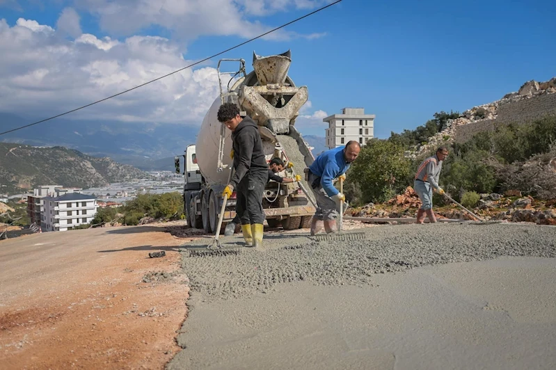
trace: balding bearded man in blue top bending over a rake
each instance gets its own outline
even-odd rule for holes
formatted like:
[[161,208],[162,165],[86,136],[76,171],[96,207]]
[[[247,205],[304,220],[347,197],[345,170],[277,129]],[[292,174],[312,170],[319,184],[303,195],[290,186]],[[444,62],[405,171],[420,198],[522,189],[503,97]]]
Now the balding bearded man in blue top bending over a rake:
[[317,211],[311,221],[311,235],[317,234],[324,224],[326,234],[335,232],[336,218],[340,209],[340,201],[345,201],[344,194],[337,191],[333,179],[346,178],[346,171],[356,160],[361,146],[356,141],[349,141],[345,147],[327,150],[315,159],[309,168],[305,168],[307,181],[317,200]]

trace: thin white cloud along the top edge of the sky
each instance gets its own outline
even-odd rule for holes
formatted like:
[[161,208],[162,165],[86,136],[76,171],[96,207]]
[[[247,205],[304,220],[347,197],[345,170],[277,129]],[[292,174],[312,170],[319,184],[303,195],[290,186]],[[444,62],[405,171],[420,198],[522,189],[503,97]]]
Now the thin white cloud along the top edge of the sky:
[[[266,26],[248,19],[277,11],[309,9],[322,0],[74,0],[75,6],[99,18],[101,29],[112,35],[127,36],[148,26],[168,29],[175,40],[194,40],[202,35],[253,38],[278,26]],[[122,22],[125,14],[125,22]],[[267,40],[319,38],[324,33],[299,34],[280,29],[264,36]]]

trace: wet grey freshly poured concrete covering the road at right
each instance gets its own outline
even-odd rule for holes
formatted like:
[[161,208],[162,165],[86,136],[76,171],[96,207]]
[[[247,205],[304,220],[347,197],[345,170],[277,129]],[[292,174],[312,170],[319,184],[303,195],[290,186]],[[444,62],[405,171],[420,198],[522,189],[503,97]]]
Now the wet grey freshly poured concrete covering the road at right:
[[296,243],[283,237],[263,251],[184,257],[191,312],[168,368],[556,368],[556,228],[368,232],[349,246],[299,236],[284,249]]

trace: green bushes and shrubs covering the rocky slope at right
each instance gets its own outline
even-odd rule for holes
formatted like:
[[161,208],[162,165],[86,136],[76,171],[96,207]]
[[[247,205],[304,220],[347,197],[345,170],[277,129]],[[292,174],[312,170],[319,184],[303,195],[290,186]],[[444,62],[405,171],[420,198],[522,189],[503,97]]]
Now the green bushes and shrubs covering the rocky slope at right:
[[[419,163],[434,155],[436,148],[415,159],[407,152],[416,143],[427,141],[425,136],[441,131],[457,114],[436,113],[434,120],[413,131],[392,133],[388,139],[374,139],[362,147],[360,157],[347,173],[346,193],[351,204],[386,202],[413,186]],[[556,168],[550,163],[556,158],[556,117],[501,126],[477,134],[464,144],[446,146],[450,154],[443,163],[440,186],[456,200],[471,192],[510,190],[539,200],[556,198]]]

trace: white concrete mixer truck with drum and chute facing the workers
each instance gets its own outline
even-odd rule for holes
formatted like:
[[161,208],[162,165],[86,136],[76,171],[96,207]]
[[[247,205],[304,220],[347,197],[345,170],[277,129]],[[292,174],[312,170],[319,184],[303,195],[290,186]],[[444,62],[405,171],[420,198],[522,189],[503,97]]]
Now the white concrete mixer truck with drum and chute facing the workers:
[[[234,72],[221,72],[223,63],[238,63],[239,67]],[[268,225],[281,225],[286,230],[310,227],[315,200],[304,180],[303,169],[315,158],[294,126],[299,109],[307,102],[308,90],[306,86],[295,86],[289,78],[291,63],[290,51],[266,57],[253,52],[253,71],[246,74],[244,59],[219,61],[220,97],[202,120],[196,143],[174,159],[176,173],[180,173],[180,157],[184,158],[184,213],[189,227],[215,233],[219,223],[221,193],[232,172],[231,133],[216,118],[224,102],[234,102],[240,108],[240,115],[249,115],[257,122],[267,163],[275,157],[293,163],[293,167],[286,166],[277,175],[294,177],[299,174],[303,178],[301,182],[288,184],[267,183],[262,205]],[[227,75],[231,77],[225,85],[223,78]],[[235,217],[235,202],[233,193],[226,204],[220,232]]]

